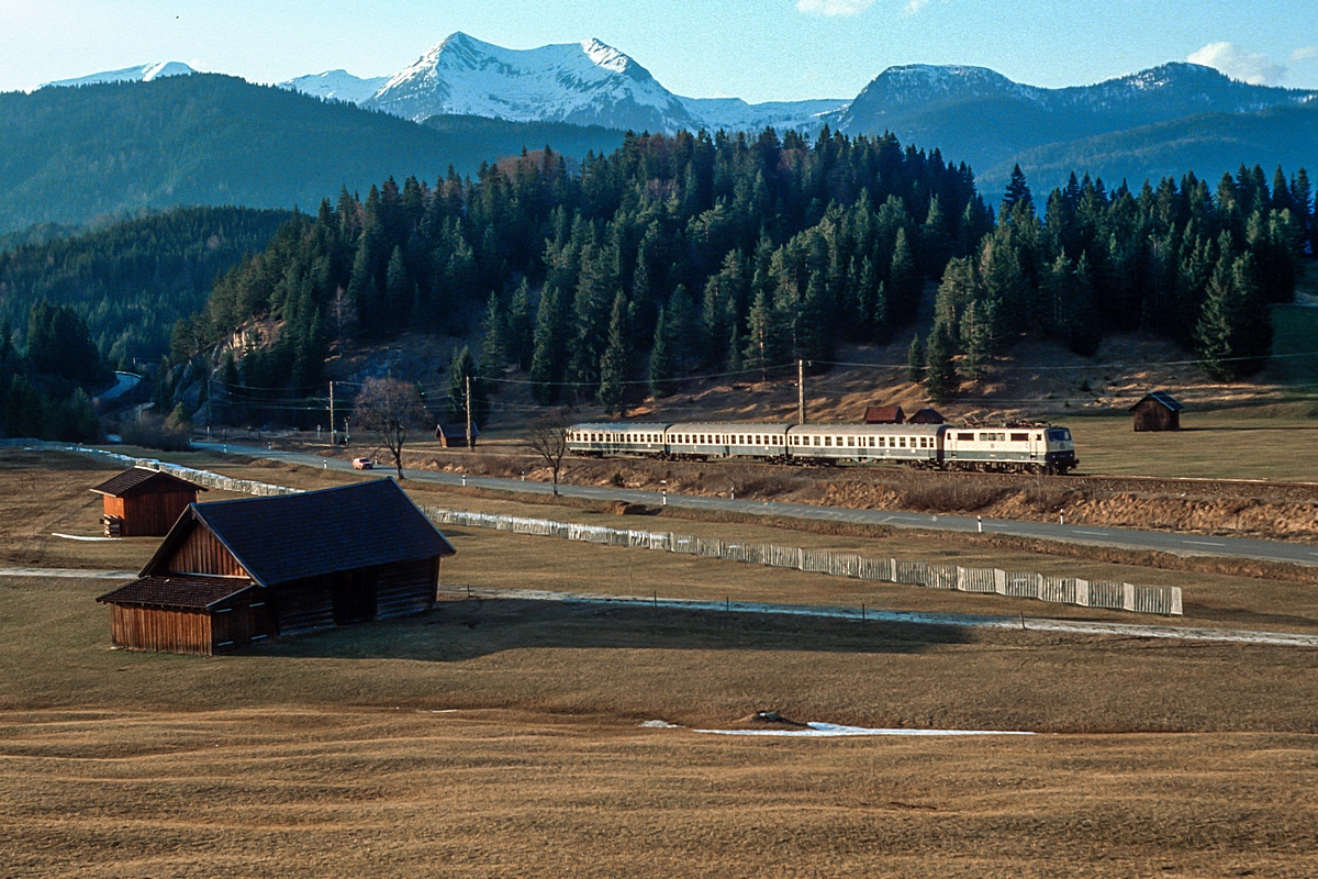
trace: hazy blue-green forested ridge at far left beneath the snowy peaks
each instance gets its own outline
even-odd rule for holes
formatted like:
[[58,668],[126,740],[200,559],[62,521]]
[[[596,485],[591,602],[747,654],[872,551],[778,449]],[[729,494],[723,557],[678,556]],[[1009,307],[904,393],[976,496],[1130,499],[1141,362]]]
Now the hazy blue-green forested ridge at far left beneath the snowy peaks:
[[0,94],[0,232],[188,204],[314,208],[389,174],[472,174],[548,137],[621,142],[571,125],[426,128],[214,74]]

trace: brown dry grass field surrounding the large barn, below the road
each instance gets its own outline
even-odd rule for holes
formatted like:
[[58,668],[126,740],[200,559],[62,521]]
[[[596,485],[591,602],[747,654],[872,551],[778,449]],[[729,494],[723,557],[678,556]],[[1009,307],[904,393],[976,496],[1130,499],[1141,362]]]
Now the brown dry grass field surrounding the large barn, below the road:
[[[351,478],[233,469],[307,488]],[[49,536],[94,532],[99,498],[86,488],[107,472],[9,456],[0,565],[140,564],[153,539]],[[432,503],[517,506],[409,488]],[[979,563],[1007,552],[920,535],[668,527]],[[734,563],[488,531],[451,538],[447,585],[861,598],[855,581]],[[1075,564],[1025,552],[1011,561]],[[1186,623],[1306,630],[1315,617],[1301,584],[1123,576],[1178,579]],[[108,614],[92,601],[107,589],[0,577],[0,875],[1318,872],[1318,651],[455,600],[194,658],[109,650]],[[894,608],[1064,610],[873,584],[865,596]],[[746,726],[760,709],[1040,735],[695,731]],[[648,720],[677,727],[641,729]]]

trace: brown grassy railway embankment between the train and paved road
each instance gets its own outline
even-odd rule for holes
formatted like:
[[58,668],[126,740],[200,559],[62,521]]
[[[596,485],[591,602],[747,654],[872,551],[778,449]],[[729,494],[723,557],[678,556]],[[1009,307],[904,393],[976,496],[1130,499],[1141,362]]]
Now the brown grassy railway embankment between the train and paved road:
[[[418,453],[407,467],[547,480],[513,453]],[[560,478],[706,497],[1318,543],[1318,485],[1131,476],[942,473],[899,467],[572,459]]]

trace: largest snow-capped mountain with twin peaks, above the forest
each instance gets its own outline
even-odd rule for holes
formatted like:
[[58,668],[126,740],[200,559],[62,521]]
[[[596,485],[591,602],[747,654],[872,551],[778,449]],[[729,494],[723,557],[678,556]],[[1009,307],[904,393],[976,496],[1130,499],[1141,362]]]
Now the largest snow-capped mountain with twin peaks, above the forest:
[[598,40],[515,50],[455,33],[362,107],[416,121],[465,113],[635,130],[700,124],[650,71]]

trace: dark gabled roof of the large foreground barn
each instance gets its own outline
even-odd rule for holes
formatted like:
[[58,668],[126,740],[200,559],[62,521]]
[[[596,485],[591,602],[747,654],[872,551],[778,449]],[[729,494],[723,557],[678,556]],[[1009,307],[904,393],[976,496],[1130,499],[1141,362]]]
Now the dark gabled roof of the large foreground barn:
[[[456,552],[393,478],[194,503],[188,511],[265,586]],[[188,515],[179,519],[142,576],[162,573],[157,565],[167,563],[191,527]]]

